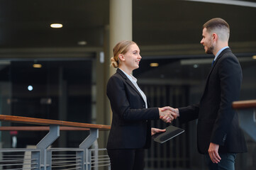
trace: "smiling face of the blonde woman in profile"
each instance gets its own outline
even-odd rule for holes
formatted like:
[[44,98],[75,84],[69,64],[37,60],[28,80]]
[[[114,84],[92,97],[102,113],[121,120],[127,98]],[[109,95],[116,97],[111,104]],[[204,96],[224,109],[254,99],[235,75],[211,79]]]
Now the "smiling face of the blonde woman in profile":
[[125,64],[125,66],[130,69],[130,71],[133,71],[133,69],[138,69],[141,59],[138,45],[130,45],[128,52],[123,55],[123,59],[124,60],[122,63]]

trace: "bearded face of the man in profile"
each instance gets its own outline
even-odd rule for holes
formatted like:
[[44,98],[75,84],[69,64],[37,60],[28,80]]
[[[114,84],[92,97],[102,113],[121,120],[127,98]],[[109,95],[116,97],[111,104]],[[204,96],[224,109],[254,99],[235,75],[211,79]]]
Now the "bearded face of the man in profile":
[[214,45],[213,45],[213,36],[206,31],[206,28],[203,29],[201,45],[204,45],[204,50],[206,54],[213,54]]

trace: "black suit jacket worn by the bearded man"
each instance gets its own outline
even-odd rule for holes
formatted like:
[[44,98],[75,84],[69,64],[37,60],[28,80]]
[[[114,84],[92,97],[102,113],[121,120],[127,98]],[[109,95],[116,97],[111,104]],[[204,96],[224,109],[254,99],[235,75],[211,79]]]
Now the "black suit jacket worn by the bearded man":
[[238,101],[242,69],[230,48],[221,52],[206,80],[201,101],[179,108],[182,121],[198,118],[197,145],[199,152],[208,152],[210,142],[220,145],[219,152],[246,152],[245,137],[238,124],[238,113],[232,102]]

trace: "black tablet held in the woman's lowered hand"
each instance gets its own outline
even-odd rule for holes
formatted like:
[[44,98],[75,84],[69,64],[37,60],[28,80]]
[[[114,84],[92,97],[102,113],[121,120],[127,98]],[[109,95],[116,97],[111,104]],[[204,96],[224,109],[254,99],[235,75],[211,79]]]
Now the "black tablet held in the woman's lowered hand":
[[152,135],[152,138],[155,142],[164,143],[167,140],[170,140],[173,137],[176,137],[177,135],[179,135],[185,131],[185,130],[183,130],[181,128],[177,128],[173,125],[170,125],[165,129],[166,129],[165,132],[160,132],[155,135]]

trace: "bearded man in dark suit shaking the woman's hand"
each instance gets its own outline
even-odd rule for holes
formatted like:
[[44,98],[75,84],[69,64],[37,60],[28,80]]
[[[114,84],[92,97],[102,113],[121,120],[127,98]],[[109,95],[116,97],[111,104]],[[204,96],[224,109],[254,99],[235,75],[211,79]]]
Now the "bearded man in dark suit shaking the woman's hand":
[[199,104],[175,108],[182,122],[198,118],[197,143],[209,169],[235,169],[237,153],[246,152],[245,138],[232,102],[238,101],[242,70],[228,47],[230,28],[222,18],[203,26],[201,44],[215,56]]

